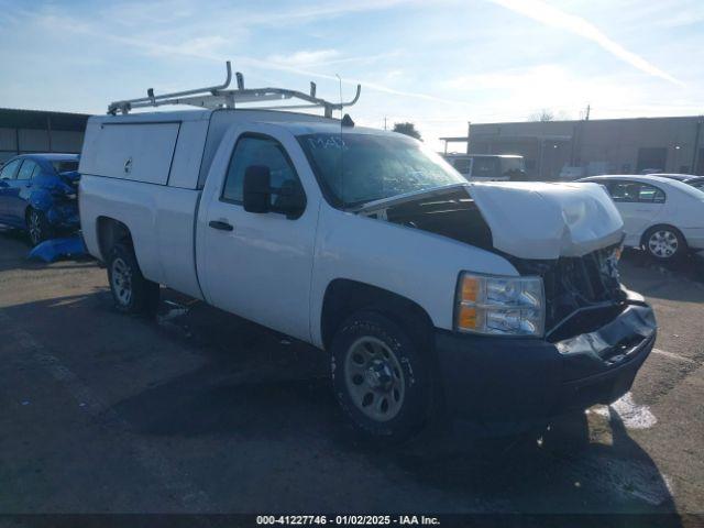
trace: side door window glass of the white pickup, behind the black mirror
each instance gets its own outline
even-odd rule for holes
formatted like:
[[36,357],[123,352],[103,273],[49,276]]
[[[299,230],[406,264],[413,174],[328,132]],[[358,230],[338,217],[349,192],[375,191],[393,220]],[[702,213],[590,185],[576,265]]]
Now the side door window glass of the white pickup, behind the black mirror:
[[[228,175],[224,180],[222,199],[233,204],[242,204],[244,173],[252,165],[268,167],[272,187],[301,190],[300,180],[288,155],[279,142],[262,135],[245,135],[234,147]],[[272,195],[272,208],[275,210],[280,195]]]

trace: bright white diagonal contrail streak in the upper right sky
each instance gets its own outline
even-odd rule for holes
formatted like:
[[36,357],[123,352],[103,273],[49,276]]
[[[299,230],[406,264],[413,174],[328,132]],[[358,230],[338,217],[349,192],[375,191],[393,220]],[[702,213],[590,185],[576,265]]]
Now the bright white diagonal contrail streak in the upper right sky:
[[574,14],[565,13],[564,11],[543,2],[542,0],[488,1],[506,8],[515,13],[521,14],[529,19],[534,19],[542,24],[550,25],[552,28],[559,28],[583,38],[592,41],[615,57],[624,61],[627,64],[630,64],[635,68],[638,68],[648,75],[660,77],[661,79],[668,80],[675,85],[683,86],[682,81],[675,79],[670,74],[663,72],[657,66],[650,64],[641,56],[629,52],[620,44],[614,42],[591,22]]

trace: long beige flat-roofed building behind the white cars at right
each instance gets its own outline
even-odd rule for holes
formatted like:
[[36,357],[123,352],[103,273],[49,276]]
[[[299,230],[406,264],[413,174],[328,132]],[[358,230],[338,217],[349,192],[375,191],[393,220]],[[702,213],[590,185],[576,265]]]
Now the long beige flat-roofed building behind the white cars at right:
[[704,175],[703,122],[694,116],[470,123],[469,136],[441,140],[446,152],[462,142],[471,154],[522,155],[536,179],[642,170]]

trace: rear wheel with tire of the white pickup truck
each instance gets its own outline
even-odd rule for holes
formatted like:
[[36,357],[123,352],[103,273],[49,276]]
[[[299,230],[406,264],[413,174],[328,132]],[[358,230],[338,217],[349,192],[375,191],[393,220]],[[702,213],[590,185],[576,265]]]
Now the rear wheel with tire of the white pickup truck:
[[116,244],[108,258],[108,282],[112,300],[123,314],[153,315],[158,307],[158,284],[142,275],[134,250]]

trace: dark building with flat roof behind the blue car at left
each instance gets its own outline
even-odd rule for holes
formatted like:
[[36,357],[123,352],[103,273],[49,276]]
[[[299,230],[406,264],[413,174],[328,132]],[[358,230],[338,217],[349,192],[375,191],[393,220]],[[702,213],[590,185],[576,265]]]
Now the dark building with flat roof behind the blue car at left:
[[0,164],[32,152],[79,153],[88,116],[0,108]]

